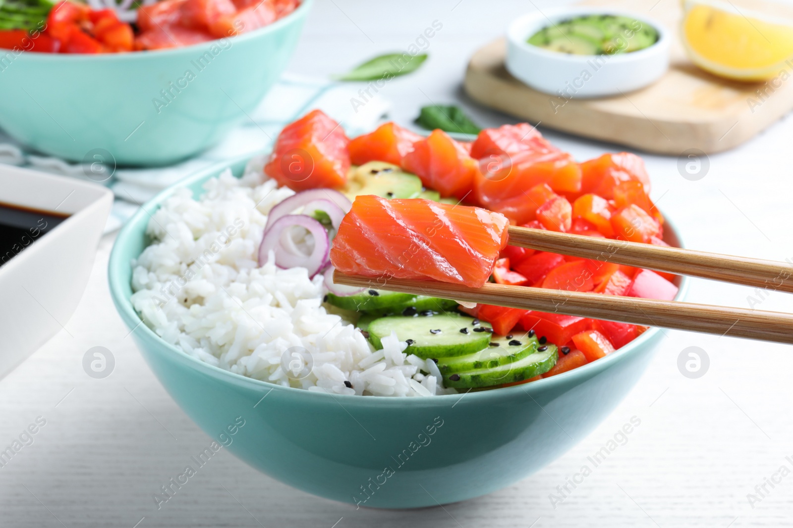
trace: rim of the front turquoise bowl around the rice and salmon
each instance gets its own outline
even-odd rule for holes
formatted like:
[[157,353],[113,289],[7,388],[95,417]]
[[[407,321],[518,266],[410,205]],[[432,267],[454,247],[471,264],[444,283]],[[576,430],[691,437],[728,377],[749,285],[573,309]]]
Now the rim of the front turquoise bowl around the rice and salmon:
[[[471,135],[469,137],[473,139],[475,136]],[[130,329],[129,334],[142,333],[142,337],[147,337],[148,339],[153,339],[155,342],[158,342],[160,347],[157,348],[157,350],[153,353],[159,354],[165,352],[167,354],[176,354],[178,358],[182,360],[181,363],[189,365],[193,370],[198,370],[204,374],[209,374],[213,378],[227,379],[232,385],[243,384],[244,386],[248,386],[251,389],[266,391],[267,394],[269,394],[272,390],[278,390],[284,392],[287,395],[290,394],[293,397],[320,397],[325,398],[326,401],[327,398],[333,398],[337,400],[337,402],[339,399],[341,399],[345,403],[355,405],[380,405],[383,407],[401,406],[408,404],[408,401],[410,402],[408,405],[434,406],[435,404],[438,404],[445,406],[448,405],[452,400],[461,401],[462,397],[468,396],[469,392],[471,392],[470,390],[465,393],[440,394],[432,397],[362,397],[356,394],[331,394],[321,393],[319,391],[310,391],[307,389],[297,389],[294,387],[285,387],[256,378],[243,376],[242,374],[236,374],[230,370],[224,370],[220,367],[215,367],[214,365],[210,365],[209,363],[201,361],[201,359],[197,359],[192,355],[189,355],[186,351],[183,351],[182,349],[167,343],[165,340],[163,340],[163,338],[158,336],[154,330],[143,323],[143,319],[140,318],[138,313],[133,308],[132,302],[122,290],[124,285],[120,279],[120,275],[123,275],[121,270],[125,266],[131,267],[132,262],[124,262],[121,260],[121,247],[127,245],[128,241],[130,241],[132,237],[139,234],[140,229],[138,229],[137,226],[143,225],[143,229],[145,230],[147,222],[144,224],[141,224],[141,222],[145,222],[146,218],[150,217],[151,213],[156,211],[165,202],[165,200],[173,195],[178,189],[190,187],[195,184],[203,184],[206,180],[209,180],[212,177],[218,177],[220,173],[222,173],[225,169],[231,168],[233,165],[247,164],[247,161],[251,160],[251,158],[269,153],[270,149],[264,149],[252,154],[243,154],[241,156],[237,156],[236,158],[230,158],[228,160],[209,165],[208,167],[205,167],[204,169],[201,169],[188,177],[184,177],[182,180],[179,180],[177,183],[163,189],[157,193],[156,196],[144,203],[143,206],[141,206],[140,209],[138,209],[138,211],[136,211],[135,214],[128,219],[125,225],[121,227],[121,230],[117,234],[116,240],[113,242],[113,249],[110,252],[107,271],[110,296],[113,298],[113,304],[116,306],[117,312]],[[239,176],[235,174],[235,177]],[[677,230],[676,226],[672,222],[669,222],[668,218],[666,217],[665,224],[668,229],[671,230],[673,234],[675,234],[675,237],[680,243],[680,247],[685,247],[684,239],[680,236],[680,231]],[[678,276],[680,276],[680,286],[674,298],[676,301],[683,300],[683,298],[688,294],[689,286],[689,278],[687,276]],[[641,336],[638,336],[636,339],[630,341],[630,343],[626,344],[624,347],[617,349],[615,352],[606,355],[597,361],[587,363],[582,367],[568,370],[567,372],[557,374],[550,378],[542,378],[531,383],[521,383],[515,386],[501,387],[499,389],[492,390],[474,391],[474,393],[469,396],[469,399],[475,398],[479,401],[493,401],[504,398],[509,399],[518,393],[526,393],[531,397],[532,392],[554,389],[559,386],[566,386],[568,384],[575,385],[577,382],[582,381],[581,378],[589,378],[595,376],[596,374],[600,374],[600,372],[603,372],[603,370],[607,370],[616,363],[619,363],[621,360],[623,360],[623,358],[637,354],[642,348],[642,345],[648,343],[650,340],[653,340],[653,338],[655,338],[661,331],[662,329],[658,327],[650,327],[646,330],[646,332],[643,332]],[[377,403],[371,404],[370,402]]]

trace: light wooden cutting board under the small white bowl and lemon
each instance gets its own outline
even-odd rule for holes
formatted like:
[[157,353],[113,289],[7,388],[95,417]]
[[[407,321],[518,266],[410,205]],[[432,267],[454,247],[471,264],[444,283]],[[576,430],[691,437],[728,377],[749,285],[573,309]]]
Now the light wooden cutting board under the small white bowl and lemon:
[[584,4],[613,6],[664,25],[672,33],[667,73],[653,85],[624,96],[565,102],[512,77],[504,68],[506,41],[500,39],[471,58],[465,92],[488,108],[543,127],[674,155],[689,149],[705,153],[731,149],[793,108],[793,61],[787,68],[790,79],[761,83],[726,81],[691,63],[677,36],[682,12],[676,0],[595,0]]

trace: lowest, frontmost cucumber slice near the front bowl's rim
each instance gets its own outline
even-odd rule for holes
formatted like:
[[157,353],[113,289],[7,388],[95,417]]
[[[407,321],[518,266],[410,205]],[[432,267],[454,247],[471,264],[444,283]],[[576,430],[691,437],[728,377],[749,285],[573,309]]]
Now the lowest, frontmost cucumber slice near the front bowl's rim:
[[454,389],[475,389],[477,387],[522,382],[524,379],[545,374],[556,364],[557,348],[553,344],[546,344],[540,348],[545,349],[542,351],[538,349],[538,351],[525,356],[523,359],[504,363],[504,365],[499,367],[443,374],[443,386],[454,387]]

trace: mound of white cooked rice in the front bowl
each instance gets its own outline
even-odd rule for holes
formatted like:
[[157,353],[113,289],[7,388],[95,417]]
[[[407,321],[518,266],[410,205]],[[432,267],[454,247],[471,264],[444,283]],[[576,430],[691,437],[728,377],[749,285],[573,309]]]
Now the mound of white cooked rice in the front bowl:
[[[132,305],[144,323],[197,359],[282,386],[374,396],[455,393],[443,388],[435,363],[405,354],[407,344],[395,334],[375,351],[354,325],[328,313],[321,275],[279,269],[272,256],[259,268],[267,214],[294,194],[262,182],[260,164],[251,161],[242,179],[227,170],[208,180],[201,199],[179,189],[152,215],[151,245],[132,263]],[[293,348],[310,353],[310,372],[287,375],[282,360]]]

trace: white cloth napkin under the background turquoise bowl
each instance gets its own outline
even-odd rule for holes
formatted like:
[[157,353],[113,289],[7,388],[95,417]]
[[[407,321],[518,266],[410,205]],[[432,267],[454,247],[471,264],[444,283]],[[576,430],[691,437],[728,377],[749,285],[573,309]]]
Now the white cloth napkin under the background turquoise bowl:
[[[141,203],[183,177],[219,161],[266,149],[286,124],[313,108],[320,108],[339,121],[348,135],[370,131],[389,112],[390,103],[377,96],[365,105],[358,104],[358,108],[354,108],[351,100],[358,97],[359,88],[354,83],[328,82],[285,74],[259,107],[251,112],[251,119],[232,130],[220,144],[176,165],[154,169],[116,169],[113,177],[102,182],[116,195],[105,233],[117,230],[135,213]],[[82,164],[33,154],[25,150],[25,146],[3,134],[2,130],[0,163],[75,177],[96,184],[94,180],[86,177]]]

